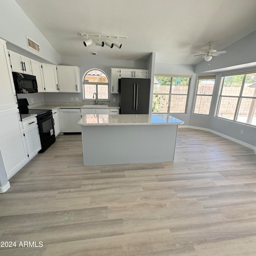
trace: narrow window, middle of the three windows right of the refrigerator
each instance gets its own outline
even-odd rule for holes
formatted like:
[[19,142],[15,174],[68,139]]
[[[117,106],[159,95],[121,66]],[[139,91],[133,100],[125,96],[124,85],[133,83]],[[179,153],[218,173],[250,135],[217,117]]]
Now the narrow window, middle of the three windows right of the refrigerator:
[[209,115],[214,84],[215,75],[198,76],[193,114]]

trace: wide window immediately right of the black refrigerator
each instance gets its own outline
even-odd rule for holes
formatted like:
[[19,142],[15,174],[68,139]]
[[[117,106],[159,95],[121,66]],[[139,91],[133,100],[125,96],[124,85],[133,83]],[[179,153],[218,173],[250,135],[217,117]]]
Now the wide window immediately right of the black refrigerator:
[[155,74],[152,112],[186,113],[191,77]]

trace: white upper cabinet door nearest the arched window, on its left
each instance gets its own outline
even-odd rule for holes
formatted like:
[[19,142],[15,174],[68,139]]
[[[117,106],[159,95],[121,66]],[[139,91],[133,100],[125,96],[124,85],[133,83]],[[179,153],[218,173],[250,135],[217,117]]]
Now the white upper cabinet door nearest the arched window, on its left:
[[57,66],[60,92],[81,92],[80,73],[77,66]]

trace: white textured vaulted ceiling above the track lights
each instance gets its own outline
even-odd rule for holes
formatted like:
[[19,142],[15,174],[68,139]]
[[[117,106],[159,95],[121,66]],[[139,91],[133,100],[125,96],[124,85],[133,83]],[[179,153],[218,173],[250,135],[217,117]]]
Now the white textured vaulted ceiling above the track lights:
[[[197,64],[213,41],[222,50],[256,30],[255,0],[16,0],[61,56]],[[92,44],[88,34],[128,36],[122,48]],[[36,41],[36,38],[32,39]],[[96,39],[96,37],[89,37]],[[102,38],[101,38],[102,39]],[[107,38],[103,38],[107,39]]]

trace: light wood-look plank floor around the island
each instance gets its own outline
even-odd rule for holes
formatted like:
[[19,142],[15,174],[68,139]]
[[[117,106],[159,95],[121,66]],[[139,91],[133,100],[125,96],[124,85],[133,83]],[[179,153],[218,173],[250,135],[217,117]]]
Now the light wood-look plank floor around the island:
[[210,132],[179,129],[174,162],[94,167],[60,135],[10,184],[1,256],[256,255],[255,153]]

